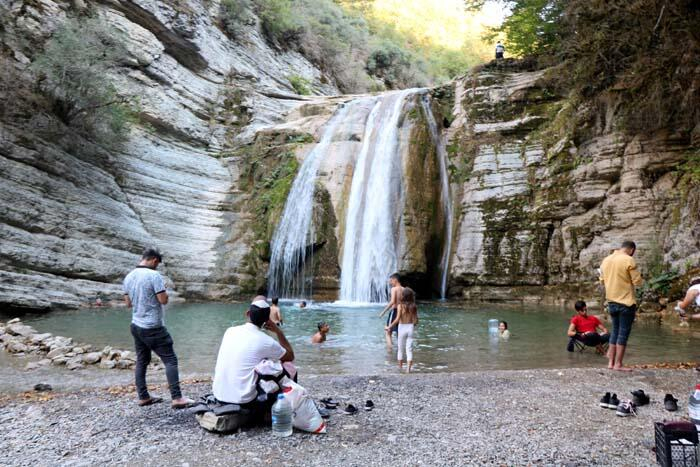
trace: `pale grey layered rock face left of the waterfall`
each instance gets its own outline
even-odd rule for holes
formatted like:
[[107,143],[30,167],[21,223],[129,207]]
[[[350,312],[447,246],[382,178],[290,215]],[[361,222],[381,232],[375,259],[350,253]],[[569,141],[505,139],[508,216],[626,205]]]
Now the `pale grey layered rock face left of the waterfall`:
[[121,278],[148,245],[163,251],[162,270],[180,295],[238,296],[250,277],[251,216],[225,151],[299,104],[286,76],[336,90],[255,28],[229,39],[217,1],[91,3],[92,14],[124,33],[129,53],[113,78],[142,109],[128,141],[99,147],[48,113],[20,111],[16,94],[30,80],[33,54],[84,6],[11,1],[2,19],[2,67],[19,82],[5,80],[1,90],[0,305],[120,300]]

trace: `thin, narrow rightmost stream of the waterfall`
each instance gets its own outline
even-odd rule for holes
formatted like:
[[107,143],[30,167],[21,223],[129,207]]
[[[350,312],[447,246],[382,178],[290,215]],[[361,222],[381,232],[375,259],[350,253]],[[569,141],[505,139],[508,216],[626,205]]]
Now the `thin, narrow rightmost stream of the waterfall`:
[[430,108],[428,95],[425,94],[421,99],[421,105],[425,111],[425,117],[428,120],[428,129],[435,144],[437,151],[438,162],[440,163],[440,200],[442,201],[442,209],[445,212],[445,243],[442,248],[442,259],[440,265],[442,268],[442,279],[440,281],[440,296],[445,298],[447,293],[447,276],[450,267],[450,255],[452,253],[452,196],[450,195],[450,179],[447,173],[447,150],[440,136],[433,111]]

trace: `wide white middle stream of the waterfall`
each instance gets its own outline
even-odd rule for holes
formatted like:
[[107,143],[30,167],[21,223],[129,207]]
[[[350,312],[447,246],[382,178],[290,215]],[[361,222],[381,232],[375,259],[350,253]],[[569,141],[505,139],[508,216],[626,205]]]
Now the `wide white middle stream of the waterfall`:
[[398,267],[397,233],[403,211],[399,120],[409,89],[381,97],[365,126],[355,163],[343,241],[340,299],[384,302]]

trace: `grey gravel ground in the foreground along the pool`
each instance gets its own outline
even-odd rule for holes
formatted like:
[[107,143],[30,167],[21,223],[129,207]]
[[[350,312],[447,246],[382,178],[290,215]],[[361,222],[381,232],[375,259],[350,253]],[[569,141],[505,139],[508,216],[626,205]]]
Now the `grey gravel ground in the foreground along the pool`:
[[[697,379],[693,370],[598,369],[301,376],[317,398],[372,399],[376,408],[334,414],[326,435],[277,439],[269,429],[207,433],[167,402],[137,407],[131,387],[17,396],[0,403],[0,464],[654,465],[653,422],[685,416]],[[636,417],[598,407],[605,391],[637,388],[652,402]],[[663,409],[666,392],[680,399],[675,416]]]

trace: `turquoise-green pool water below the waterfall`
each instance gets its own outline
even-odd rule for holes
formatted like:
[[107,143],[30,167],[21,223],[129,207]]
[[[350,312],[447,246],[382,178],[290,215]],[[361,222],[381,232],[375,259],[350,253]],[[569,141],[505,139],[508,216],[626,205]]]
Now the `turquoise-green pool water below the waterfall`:
[[[183,374],[213,373],[216,354],[228,326],[244,322],[243,304],[172,305],[166,326],[175,340]],[[395,366],[396,349],[384,340],[380,307],[313,304],[299,309],[283,304],[283,330],[294,347],[297,366],[313,374],[377,374]],[[592,351],[566,352],[566,329],[573,312],[560,309],[507,308],[497,305],[419,304],[420,324],[414,347],[416,370],[455,372],[487,369],[602,366]],[[130,312],[124,308],[55,311],[26,315],[40,332],[73,337],[98,347],[132,348]],[[0,316],[0,320],[8,317]],[[491,339],[490,318],[508,321],[511,338]],[[331,326],[328,341],[312,345],[318,321]],[[697,358],[698,339],[669,326],[636,323],[629,342],[628,363],[688,361]]]

